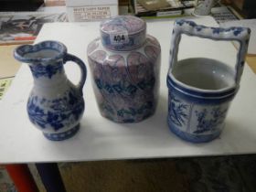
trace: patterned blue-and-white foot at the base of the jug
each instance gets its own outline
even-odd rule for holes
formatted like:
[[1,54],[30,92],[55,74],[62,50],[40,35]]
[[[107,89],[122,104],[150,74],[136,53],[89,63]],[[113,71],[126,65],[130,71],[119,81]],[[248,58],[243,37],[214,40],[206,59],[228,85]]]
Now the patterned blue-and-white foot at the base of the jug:
[[48,138],[48,140],[51,140],[51,141],[63,141],[63,140],[69,139],[70,137],[75,135],[79,131],[79,129],[80,129],[80,124],[77,124],[76,126],[74,126],[73,128],[69,129],[66,132],[44,133],[44,136],[46,138]]

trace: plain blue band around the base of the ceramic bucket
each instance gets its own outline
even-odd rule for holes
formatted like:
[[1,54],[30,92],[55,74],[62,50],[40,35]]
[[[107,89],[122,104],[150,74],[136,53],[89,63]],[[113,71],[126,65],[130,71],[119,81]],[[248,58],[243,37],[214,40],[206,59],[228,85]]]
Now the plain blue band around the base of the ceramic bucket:
[[196,134],[183,132],[173,125],[169,125],[169,129],[171,130],[172,133],[175,133],[176,136],[178,136],[179,138],[195,144],[210,142],[216,139],[217,137],[219,137],[219,134],[221,133],[221,131],[219,131],[211,134],[196,135]]

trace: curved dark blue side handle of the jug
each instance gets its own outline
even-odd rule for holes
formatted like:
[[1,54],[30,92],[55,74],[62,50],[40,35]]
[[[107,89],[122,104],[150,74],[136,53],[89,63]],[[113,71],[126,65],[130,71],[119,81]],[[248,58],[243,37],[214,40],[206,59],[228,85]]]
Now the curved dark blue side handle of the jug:
[[64,63],[66,63],[67,61],[73,61],[76,64],[78,64],[79,67],[80,67],[81,77],[80,77],[80,82],[78,84],[78,88],[79,88],[80,94],[82,95],[82,88],[84,86],[84,83],[85,83],[85,80],[86,80],[86,77],[87,77],[86,66],[85,66],[84,62],[81,59],[79,59],[78,57],[76,57],[74,55],[71,55],[69,53],[67,53],[64,57]]

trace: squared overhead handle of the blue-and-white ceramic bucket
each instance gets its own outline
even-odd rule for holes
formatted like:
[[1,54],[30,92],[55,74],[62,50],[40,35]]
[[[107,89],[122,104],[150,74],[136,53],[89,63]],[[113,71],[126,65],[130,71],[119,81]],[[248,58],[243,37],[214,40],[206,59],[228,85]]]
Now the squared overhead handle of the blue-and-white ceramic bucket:
[[240,83],[240,77],[244,67],[244,60],[247,53],[249,44],[251,29],[247,27],[205,27],[197,25],[193,21],[184,19],[176,20],[173,28],[173,34],[171,39],[169,70],[171,72],[173,66],[177,62],[178,45],[181,39],[181,35],[203,37],[212,40],[224,40],[224,41],[238,41],[240,48],[237,54],[237,61],[235,65],[235,82]]

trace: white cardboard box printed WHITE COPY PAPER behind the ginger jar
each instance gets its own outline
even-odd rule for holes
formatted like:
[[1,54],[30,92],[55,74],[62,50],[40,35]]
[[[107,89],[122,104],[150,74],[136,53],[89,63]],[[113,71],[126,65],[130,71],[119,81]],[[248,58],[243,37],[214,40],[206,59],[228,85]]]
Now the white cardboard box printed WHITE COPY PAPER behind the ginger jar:
[[70,22],[93,21],[118,15],[118,0],[66,0]]

